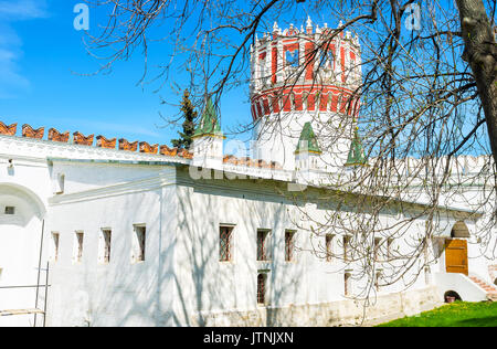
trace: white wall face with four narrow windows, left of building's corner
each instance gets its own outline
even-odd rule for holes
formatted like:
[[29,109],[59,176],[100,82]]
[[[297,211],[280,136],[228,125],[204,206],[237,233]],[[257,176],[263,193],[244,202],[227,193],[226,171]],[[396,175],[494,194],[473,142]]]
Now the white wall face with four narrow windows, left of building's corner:
[[[144,176],[139,166],[54,165],[55,171],[76,178],[91,169],[105,172],[107,179],[116,174],[115,183],[105,180],[106,186],[99,186],[107,189],[105,195],[83,184],[82,191],[70,187],[72,191],[53,199],[49,231],[60,233],[61,253],[52,263],[56,286],[51,289],[50,325],[170,326],[176,195],[167,178],[175,169],[155,169],[147,173],[144,187],[137,180]],[[131,261],[137,224],[146,226],[145,261],[138,263]],[[98,257],[103,229],[112,231],[108,264]],[[84,232],[81,263],[74,260],[76,232]]]

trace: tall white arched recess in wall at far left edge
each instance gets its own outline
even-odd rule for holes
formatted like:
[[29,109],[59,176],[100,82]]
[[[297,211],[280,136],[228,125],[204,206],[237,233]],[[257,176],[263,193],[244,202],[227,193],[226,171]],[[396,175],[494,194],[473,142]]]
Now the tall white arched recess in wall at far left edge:
[[[0,310],[35,307],[45,207],[28,188],[0,183]],[[32,326],[32,315],[0,317],[0,327]]]

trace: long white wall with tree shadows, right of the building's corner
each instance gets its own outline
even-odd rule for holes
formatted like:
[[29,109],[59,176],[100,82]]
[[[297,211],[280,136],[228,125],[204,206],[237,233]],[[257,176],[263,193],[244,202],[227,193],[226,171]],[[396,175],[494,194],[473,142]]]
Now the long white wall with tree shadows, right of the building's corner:
[[[175,271],[181,277],[178,277],[175,296],[177,325],[326,326],[336,324],[338,319],[334,316],[343,316],[352,322],[360,318],[360,304],[347,300],[345,296],[345,265],[338,261],[327,262],[322,255],[311,253],[318,244],[324,245],[324,236],[311,236],[308,224],[305,229],[294,224],[300,219],[299,211],[295,202],[276,194],[276,184],[272,187],[261,182],[254,187],[243,181],[189,183],[182,174],[179,176],[179,234]],[[182,186],[183,180],[186,186]],[[306,213],[322,218],[325,210],[307,204]],[[452,222],[455,223],[455,220],[452,219]],[[219,262],[219,240],[212,236],[218,237],[220,225],[234,226],[231,262]],[[269,262],[256,261],[256,232],[260,229],[271,230]],[[424,221],[420,220],[410,226],[406,236],[422,236],[423,229]],[[297,253],[292,262],[285,262],[284,256],[286,230],[296,232]],[[395,242],[392,247],[400,248],[402,253],[404,242]],[[340,253],[341,246],[336,244],[334,248]],[[267,273],[266,306],[257,306],[258,273]],[[415,304],[414,299],[421,298],[414,297],[409,307],[404,302],[398,303],[398,306],[390,304],[389,308],[387,304],[402,297],[401,293],[412,279],[414,275],[408,274],[404,283],[382,288],[379,299],[383,300],[379,300],[371,316],[387,316],[388,309],[405,314],[403,311],[409,313],[409,307],[415,311],[427,304],[442,302],[433,278],[422,275],[409,292],[425,293],[426,298]],[[352,293],[362,286],[355,281]],[[350,313],[346,316],[347,311]]]

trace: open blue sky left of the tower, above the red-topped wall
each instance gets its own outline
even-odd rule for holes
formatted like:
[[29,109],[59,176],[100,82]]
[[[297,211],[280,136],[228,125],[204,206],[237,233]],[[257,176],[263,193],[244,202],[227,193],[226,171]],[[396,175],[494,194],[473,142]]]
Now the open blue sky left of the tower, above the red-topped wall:
[[[0,0],[0,120],[169,145],[177,130],[159,113],[172,116],[178,109],[160,101],[179,103],[181,96],[168,87],[155,93],[154,86],[137,86],[140,54],[119,62],[110,74],[81,75],[95,72],[101,62],[86,53],[84,34],[73,27],[80,2]],[[91,25],[95,22],[91,10]],[[167,50],[157,45],[155,57],[160,61]],[[251,120],[247,89],[223,97],[223,128]]]

